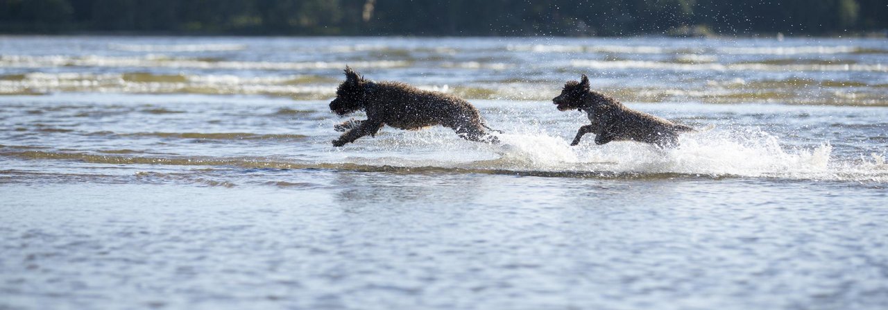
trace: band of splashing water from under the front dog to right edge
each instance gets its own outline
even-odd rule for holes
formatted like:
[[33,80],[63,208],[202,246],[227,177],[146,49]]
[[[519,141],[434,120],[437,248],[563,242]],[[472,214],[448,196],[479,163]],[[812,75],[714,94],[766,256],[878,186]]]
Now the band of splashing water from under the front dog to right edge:
[[[762,130],[715,129],[683,135],[680,146],[659,148],[636,142],[570,147],[558,135],[519,131],[499,136],[501,145],[454,139],[447,131],[393,133],[362,141],[384,157],[349,157],[346,162],[440,167],[472,171],[524,171],[546,175],[662,175],[712,178],[779,178],[888,182],[884,155],[860,160],[833,158],[832,146],[787,147]],[[412,155],[398,155],[413,150]],[[408,152],[410,153],[410,152]]]

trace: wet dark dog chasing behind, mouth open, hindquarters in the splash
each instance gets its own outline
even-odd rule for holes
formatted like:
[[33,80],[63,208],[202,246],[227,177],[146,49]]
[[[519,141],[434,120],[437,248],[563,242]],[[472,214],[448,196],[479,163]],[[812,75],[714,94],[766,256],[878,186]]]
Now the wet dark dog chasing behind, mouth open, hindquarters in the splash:
[[583,75],[579,83],[569,81],[558,97],[552,99],[559,111],[580,110],[586,112],[591,124],[576,131],[575,146],[586,133],[595,133],[595,144],[610,141],[632,140],[654,144],[657,147],[677,147],[678,134],[694,131],[686,125],[672,123],[660,117],[625,107],[611,97],[591,91],[589,78]]

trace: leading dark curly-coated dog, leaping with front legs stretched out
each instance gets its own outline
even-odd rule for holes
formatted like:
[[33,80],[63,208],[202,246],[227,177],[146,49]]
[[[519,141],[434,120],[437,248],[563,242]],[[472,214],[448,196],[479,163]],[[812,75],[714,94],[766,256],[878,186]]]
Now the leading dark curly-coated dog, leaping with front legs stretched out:
[[[420,130],[442,125],[456,131],[463,139],[496,144],[499,139],[485,131],[496,131],[481,120],[477,108],[468,101],[439,91],[423,91],[407,83],[373,82],[345,67],[345,82],[340,83],[330,110],[343,116],[364,110],[366,120],[349,120],[334,126],[345,131],[333,140],[334,147],[366,135],[375,137],[384,125],[403,130]],[[496,131],[503,133],[502,131]]]

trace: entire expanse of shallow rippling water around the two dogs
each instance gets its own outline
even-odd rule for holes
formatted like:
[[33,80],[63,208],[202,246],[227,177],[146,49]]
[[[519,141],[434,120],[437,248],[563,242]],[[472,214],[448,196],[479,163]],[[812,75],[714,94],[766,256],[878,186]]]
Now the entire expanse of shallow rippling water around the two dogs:
[[[346,64],[503,145],[331,147]],[[886,66],[875,39],[0,37],[0,308],[882,309]],[[568,147],[587,120],[550,99],[583,73],[705,130]]]

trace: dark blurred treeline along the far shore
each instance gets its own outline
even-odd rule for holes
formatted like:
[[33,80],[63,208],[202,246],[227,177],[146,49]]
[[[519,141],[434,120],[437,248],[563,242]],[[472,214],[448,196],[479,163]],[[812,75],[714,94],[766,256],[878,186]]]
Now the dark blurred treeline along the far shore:
[[198,35],[829,35],[884,31],[885,0],[0,0],[0,32]]

